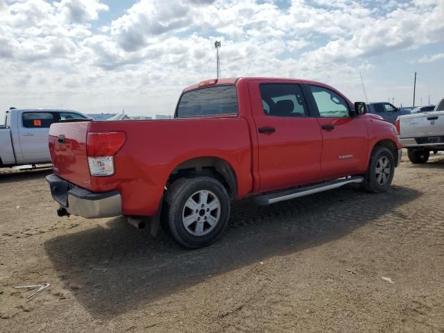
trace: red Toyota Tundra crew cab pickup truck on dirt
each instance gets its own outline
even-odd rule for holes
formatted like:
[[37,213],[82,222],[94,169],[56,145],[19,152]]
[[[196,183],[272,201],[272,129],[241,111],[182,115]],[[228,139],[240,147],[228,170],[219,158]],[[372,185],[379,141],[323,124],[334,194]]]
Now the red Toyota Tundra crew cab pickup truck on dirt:
[[174,118],[51,125],[59,216],[123,214],[154,234],[162,221],[198,248],[221,235],[230,200],[268,205],[349,183],[382,192],[401,160],[391,123],[308,80],[206,80],[184,89]]

